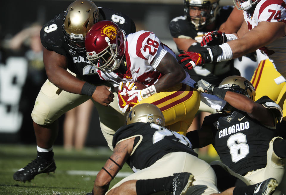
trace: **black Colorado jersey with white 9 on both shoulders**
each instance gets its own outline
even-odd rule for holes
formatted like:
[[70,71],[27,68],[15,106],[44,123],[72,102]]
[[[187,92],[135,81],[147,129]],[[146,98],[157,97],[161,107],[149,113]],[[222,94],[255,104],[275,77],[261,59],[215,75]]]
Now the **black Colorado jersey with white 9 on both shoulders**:
[[[126,34],[136,32],[134,22],[127,15],[104,7],[99,7],[99,13],[100,21],[113,21]],[[88,61],[86,52],[77,52],[66,43],[62,27],[64,18],[65,12],[60,13],[43,26],[40,31],[42,45],[48,50],[66,56],[68,69],[80,78],[95,84],[104,82],[95,71],[94,65]]]

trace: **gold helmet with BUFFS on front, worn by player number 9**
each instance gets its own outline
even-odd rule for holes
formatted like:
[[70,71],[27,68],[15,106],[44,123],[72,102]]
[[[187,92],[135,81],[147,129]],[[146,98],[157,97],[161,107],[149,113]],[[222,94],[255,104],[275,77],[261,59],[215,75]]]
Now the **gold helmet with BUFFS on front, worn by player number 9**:
[[70,47],[84,52],[84,38],[94,23],[99,21],[99,12],[94,2],[76,0],[66,10],[63,22],[64,38]]

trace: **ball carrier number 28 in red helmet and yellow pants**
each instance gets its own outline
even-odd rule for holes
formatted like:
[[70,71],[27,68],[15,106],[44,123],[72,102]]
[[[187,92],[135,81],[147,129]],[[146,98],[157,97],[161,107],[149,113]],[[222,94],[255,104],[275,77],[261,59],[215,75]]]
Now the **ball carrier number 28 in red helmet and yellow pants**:
[[166,125],[172,125],[168,128],[186,133],[198,110],[200,96],[190,87],[195,81],[178,64],[175,53],[154,33],[142,30],[125,37],[116,24],[101,21],[88,31],[85,44],[87,58],[97,65],[101,79],[117,85],[122,81],[146,86],[142,90],[128,86],[125,93],[118,93],[123,112],[137,103],[152,103],[163,112]]

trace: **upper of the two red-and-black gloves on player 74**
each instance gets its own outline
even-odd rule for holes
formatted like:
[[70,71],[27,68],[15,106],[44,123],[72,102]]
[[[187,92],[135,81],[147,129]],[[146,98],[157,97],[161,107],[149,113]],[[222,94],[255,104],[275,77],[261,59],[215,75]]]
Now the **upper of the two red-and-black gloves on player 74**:
[[211,31],[206,33],[203,37],[202,42],[200,42],[200,46],[215,46],[226,43],[226,34],[221,31]]

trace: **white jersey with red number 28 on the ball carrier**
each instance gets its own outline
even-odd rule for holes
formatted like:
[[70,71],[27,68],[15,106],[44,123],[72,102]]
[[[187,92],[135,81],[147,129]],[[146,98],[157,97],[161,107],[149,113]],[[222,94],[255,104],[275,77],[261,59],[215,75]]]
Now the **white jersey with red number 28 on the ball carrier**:
[[140,82],[146,86],[153,85],[163,75],[156,70],[162,58],[167,52],[175,58],[175,53],[160,42],[153,32],[138,31],[127,35],[125,57],[127,71],[122,74],[119,71],[110,73],[97,70],[102,80],[119,84],[123,82]]

